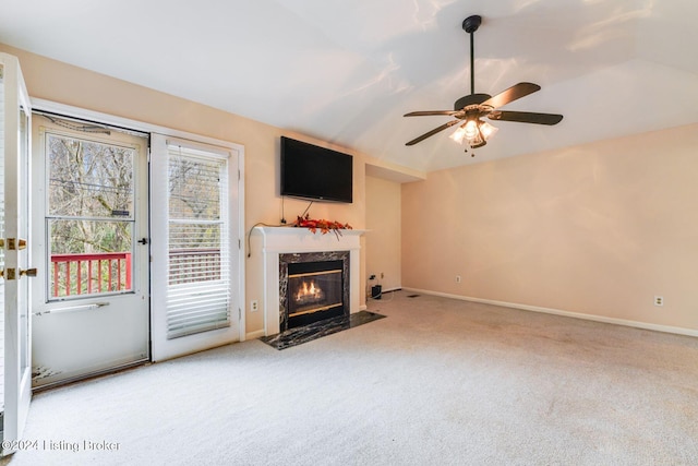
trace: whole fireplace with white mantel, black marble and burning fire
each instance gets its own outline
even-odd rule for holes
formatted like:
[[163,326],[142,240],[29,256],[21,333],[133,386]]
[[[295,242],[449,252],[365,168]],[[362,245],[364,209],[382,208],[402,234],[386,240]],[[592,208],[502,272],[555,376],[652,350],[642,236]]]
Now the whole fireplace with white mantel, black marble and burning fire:
[[[341,235],[322,235],[320,231],[313,234],[306,228],[293,227],[255,227],[250,237],[251,261],[249,271],[251,274],[263,277],[260,282],[261,288],[252,289],[250,300],[262,297],[264,315],[265,336],[270,336],[292,328],[297,323],[305,325],[315,319],[328,319],[339,314],[349,316],[350,313],[365,309],[360,299],[360,261],[361,250],[360,237],[363,230],[342,230]],[[340,261],[341,266],[339,266]],[[316,263],[315,265],[306,265]],[[289,268],[290,267],[290,268]],[[308,268],[310,267],[310,268]],[[317,268],[320,267],[320,268]],[[325,274],[329,270],[332,273]],[[337,272],[341,268],[341,279]],[[289,272],[290,271],[290,272]],[[321,274],[321,272],[323,272]],[[315,288],[320,287],[322,292],[312,289],[312,283],[308,278],[315,275]],[[289,283],[289,275],[291,279]],[[296,304],[291,304],[291,315],[289,316],[288,301],[289,286],[303,287],[302,280],[305,275],[308,295],[301,298]],[[317,282],[321,279],[322,282]],[[334,306],[336,296],[341,284],[341,308]],[[330,286],[333,290],[329,290]],[[297,290],[298,292],[298,290]],[[313,302],[324,299],[328,302],[320,304]],[[329,302],[332,301],[332,302]],[[327,307],[327,309],[322,309]],[[321,309],[318,309],[321,308]],[[254,314],[252,314],[254,315]],[[290,325],[289,325],[290,324]]]

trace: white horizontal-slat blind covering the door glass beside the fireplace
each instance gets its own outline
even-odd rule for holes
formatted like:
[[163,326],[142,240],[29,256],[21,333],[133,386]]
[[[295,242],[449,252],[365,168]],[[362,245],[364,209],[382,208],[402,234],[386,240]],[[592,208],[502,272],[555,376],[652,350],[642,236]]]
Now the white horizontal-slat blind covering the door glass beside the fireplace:
[[227,164],[168,145],[168,339],[230,326]]

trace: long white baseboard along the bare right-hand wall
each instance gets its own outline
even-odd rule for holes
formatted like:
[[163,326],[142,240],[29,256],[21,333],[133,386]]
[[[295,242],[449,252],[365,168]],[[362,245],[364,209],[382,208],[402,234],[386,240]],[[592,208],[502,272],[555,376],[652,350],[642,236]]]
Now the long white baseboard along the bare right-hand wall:
[[624,326],[631,326],[636,328],[652,330],[657,332],[673,333],[676,335],[698,337],[698,330],[693,330],[693,328],[684,328],[684,327],[677,327],[677,326],[671,326],[671,325],[659,325],[659,324],[652,324],[648,322],[630,321],[626,319],[607,318],[604,315],[585,314],[582,312],[563,311],[559,309],[542,308],[540,306],[519,304],[516,302],[506,302],[506,301],[495,301],[493,299],[472,298],[469,296],[430,291],[426,289],[419,289],[419,288],[402,288],[402,289],[410,292],[420,292],[422,295],[433,295],[433,296],[441,296],[444,298],[459,299],[461,301],[480,302],[483,304],[501,306],[503,308],[513,308],[513,309],[520,309],[524,311],[542,312],[545,314],[564,315],[566,318],[582,319],[587,321],[603,322],[606,324],[624,325]]

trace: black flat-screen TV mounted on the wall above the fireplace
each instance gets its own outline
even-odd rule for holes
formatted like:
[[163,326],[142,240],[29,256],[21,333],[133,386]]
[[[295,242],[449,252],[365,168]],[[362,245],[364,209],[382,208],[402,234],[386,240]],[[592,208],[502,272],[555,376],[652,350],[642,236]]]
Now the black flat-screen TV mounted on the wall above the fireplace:
[[351,203],[353,157],[281,136],[281,195]]

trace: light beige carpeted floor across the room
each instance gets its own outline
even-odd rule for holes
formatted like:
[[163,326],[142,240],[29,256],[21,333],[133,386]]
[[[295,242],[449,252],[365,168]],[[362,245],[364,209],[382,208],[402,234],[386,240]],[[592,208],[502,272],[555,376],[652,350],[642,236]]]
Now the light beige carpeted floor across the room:
[[698,464],[698,338],[405,292],[369,311],[40,393],[9,464]]

